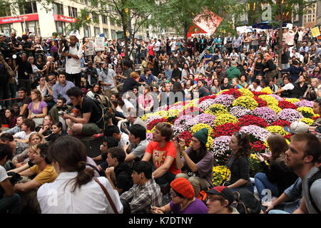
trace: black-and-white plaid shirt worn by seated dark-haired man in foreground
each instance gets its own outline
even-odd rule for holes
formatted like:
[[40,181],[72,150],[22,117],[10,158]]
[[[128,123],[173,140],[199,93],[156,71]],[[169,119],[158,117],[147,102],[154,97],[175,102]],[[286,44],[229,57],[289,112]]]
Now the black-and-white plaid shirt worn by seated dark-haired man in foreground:
[[162,196],[161,187],[152,179],[143,186],[133,185],[121,199],[129,202],[132,214],[151,214],[151,206],[161,207]]

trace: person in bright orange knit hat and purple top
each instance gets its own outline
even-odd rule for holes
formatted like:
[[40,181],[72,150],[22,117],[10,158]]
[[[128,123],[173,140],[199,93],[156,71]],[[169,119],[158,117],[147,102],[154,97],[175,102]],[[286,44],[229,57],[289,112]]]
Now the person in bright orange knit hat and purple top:
[[208,208],[195,197],[193,186],[185,178],[179,177],[170,183],[170,203],[163,207],[153,207],[153,213],[164,214],[208,214]]

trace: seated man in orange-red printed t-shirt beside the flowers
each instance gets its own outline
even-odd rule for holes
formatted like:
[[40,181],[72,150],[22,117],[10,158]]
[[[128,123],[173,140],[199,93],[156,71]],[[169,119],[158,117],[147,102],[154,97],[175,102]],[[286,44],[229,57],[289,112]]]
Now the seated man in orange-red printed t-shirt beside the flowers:
[[[142,161],[148,162],[153,157],[153,178],[163,188],[164,192],[175,176],[180,173],[176,167],[176,149],[174,142],[170,141],[173,130],[168,123],[158,123],[153,133],[153,141],[149,142]],[[163,193],[164,193],[163,192]]]

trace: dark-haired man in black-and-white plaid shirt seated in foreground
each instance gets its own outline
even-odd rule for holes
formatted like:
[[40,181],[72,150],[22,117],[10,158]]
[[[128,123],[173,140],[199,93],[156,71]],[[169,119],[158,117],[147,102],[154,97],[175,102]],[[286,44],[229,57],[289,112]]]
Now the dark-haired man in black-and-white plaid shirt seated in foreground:
[[136,162],[133,166],[133,187],[121,195],[124,213],[150,214],[151,206],[161,207],[161,188],[152,178],[152,165],[149,162]]

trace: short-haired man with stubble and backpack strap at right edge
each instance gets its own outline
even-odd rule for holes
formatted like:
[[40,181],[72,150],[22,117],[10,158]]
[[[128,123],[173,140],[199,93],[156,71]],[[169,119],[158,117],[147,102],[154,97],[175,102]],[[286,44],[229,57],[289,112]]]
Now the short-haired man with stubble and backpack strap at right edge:
[[302,201],[293,214],[320,214],[321,179],[310,183],[315,173],[320,172],[320,167],[315,167],[321,162],[320,140],[310,133],[295,134],[285,155],[285,164],[302,179]]

